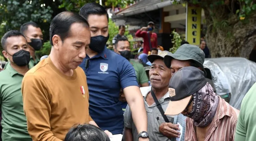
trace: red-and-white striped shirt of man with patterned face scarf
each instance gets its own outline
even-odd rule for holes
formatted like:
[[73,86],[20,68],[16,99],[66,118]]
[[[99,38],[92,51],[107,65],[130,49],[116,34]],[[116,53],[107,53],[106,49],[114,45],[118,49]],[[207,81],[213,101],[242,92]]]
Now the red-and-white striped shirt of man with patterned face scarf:
[[[213,121],[208,125],[205,141],[234,141],[239,110],[219,97],[219,104]],[[197,141],[193,119],[187,118],[185,141]]]

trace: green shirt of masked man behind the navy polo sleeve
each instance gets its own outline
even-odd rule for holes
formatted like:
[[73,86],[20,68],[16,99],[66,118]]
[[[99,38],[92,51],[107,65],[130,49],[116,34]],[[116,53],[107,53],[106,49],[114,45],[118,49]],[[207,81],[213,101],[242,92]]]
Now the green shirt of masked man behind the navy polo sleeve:
[[133,68],[135,69],[137,81],[139,84],[144,84],[148,82],[147,74],[145,71],[145,68],[141,63],[130,61],[130,63],[133,65]]

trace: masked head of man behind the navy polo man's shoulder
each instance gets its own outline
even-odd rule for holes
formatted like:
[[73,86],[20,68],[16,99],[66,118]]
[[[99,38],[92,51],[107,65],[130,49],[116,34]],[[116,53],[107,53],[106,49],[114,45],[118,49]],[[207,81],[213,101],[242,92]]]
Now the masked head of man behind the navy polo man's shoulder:
[[127,60],[130,60],[130,56],[131,56],[130,43],[126,38],[121,37],[116,40],[114,51],[117,54],[120,54],[121,56],[126,58]]

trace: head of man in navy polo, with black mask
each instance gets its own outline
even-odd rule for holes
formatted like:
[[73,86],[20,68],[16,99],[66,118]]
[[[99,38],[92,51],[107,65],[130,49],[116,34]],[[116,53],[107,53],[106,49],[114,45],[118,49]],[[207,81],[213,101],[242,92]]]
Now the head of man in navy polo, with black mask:
[[106,42],[109,39],[109,16],[106,9],[103,6],[93,2],[85,4],[80,9],[79,14],[84,17],[90,25],[91,44],[89,50],[96,53],[102,53]]

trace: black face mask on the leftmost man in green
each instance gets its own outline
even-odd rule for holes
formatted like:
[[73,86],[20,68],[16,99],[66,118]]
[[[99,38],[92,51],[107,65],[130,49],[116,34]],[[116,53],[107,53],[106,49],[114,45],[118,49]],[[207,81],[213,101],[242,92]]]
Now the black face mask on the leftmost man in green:
[[15,63],[20,67],[29,65],[30,53],[29,51],[21,49],[17,53],[14,53],[12,55],[12,60],[13,60],[13,63]]

